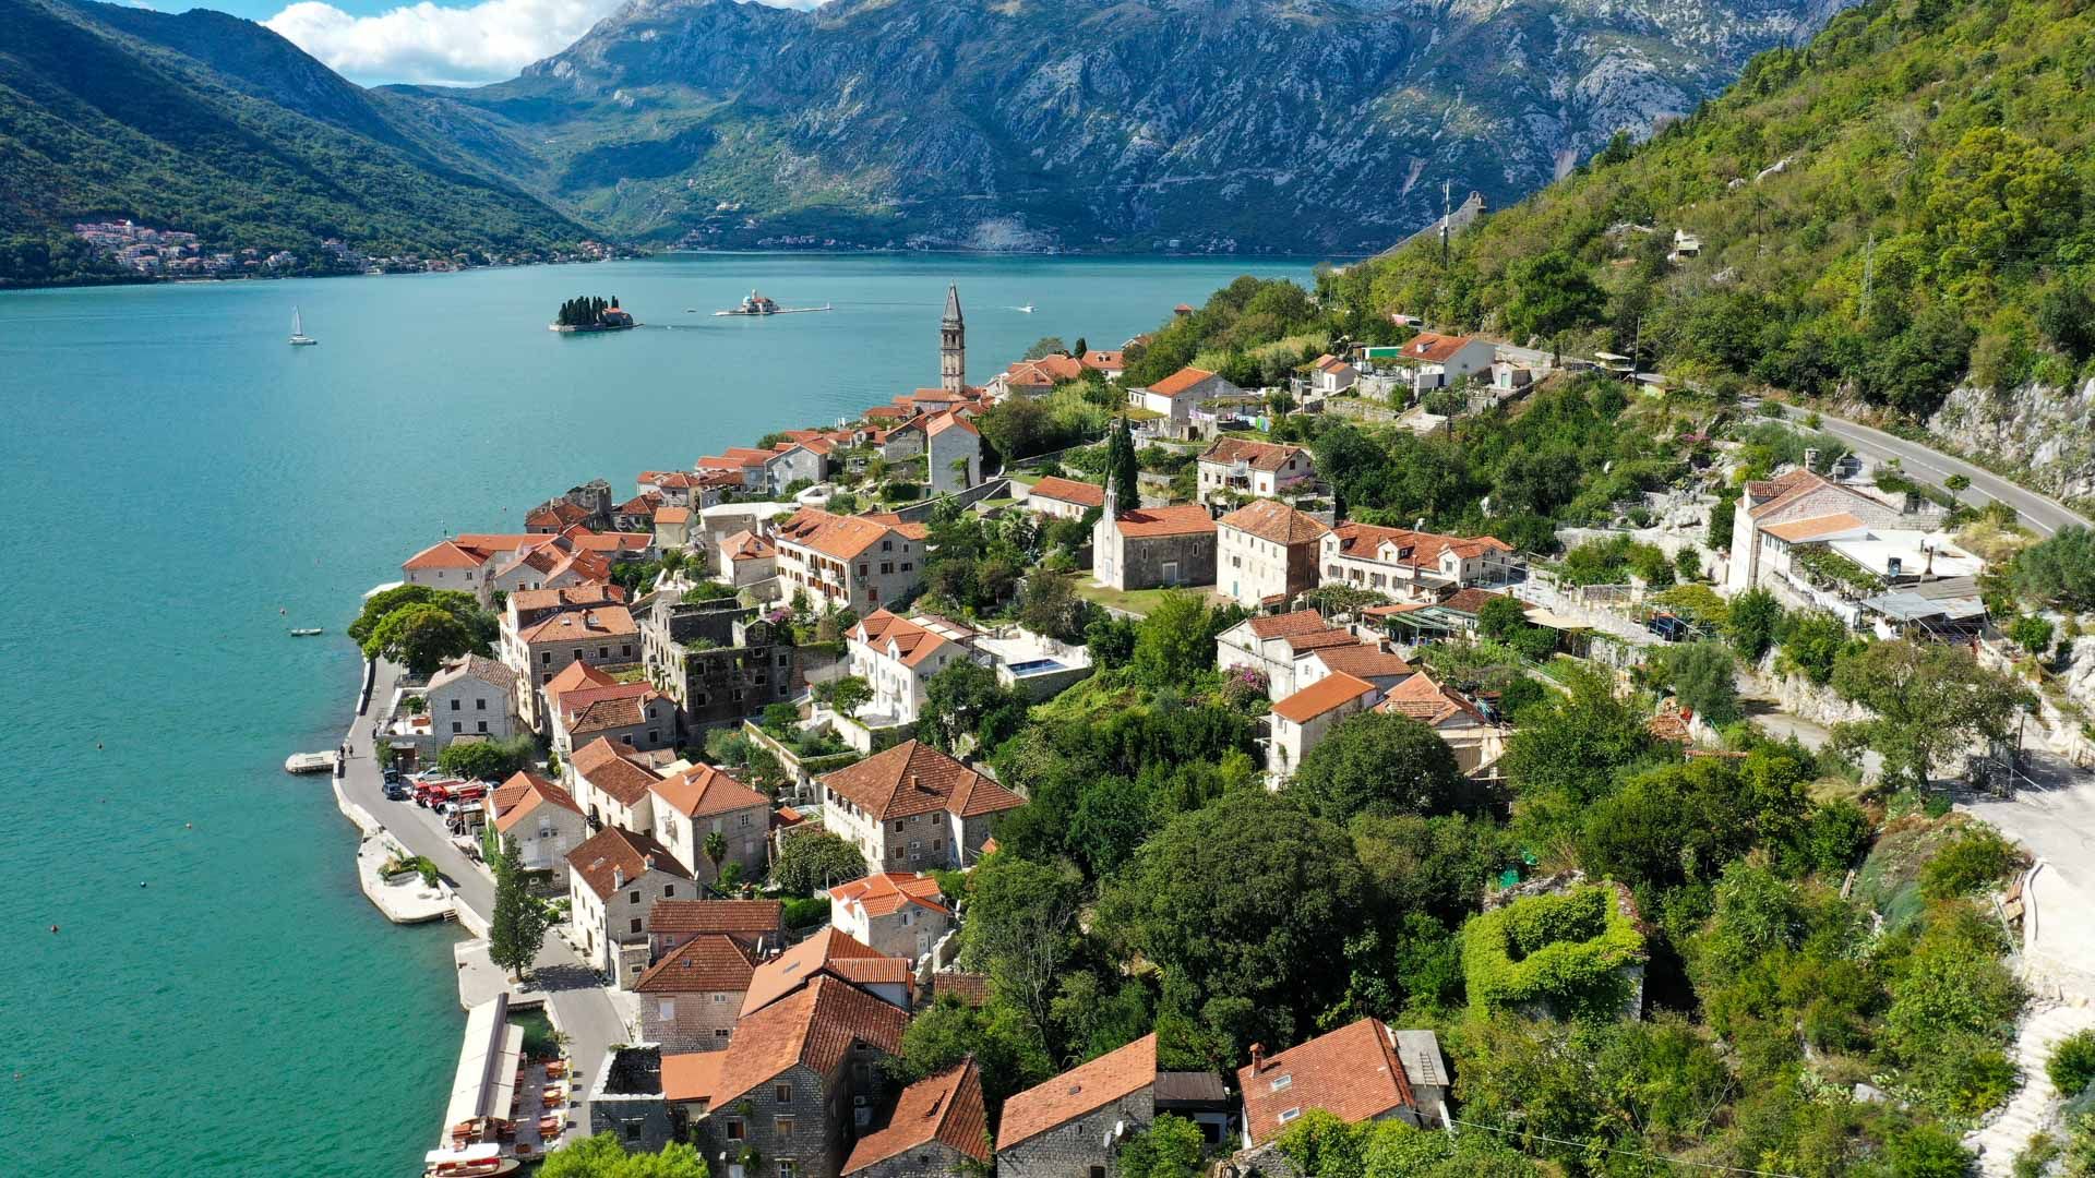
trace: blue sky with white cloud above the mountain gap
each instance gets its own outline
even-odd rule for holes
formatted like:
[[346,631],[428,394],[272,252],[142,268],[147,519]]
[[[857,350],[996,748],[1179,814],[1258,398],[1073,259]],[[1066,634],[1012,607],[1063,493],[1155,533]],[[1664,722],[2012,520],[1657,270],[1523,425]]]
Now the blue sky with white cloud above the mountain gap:
[[[821,0],[756,0],[813,8]],[[624,0],[151,0],[180,13],[220,8],[262,21],[291,44],[365,86],[383,82],[480,84],[515,78],[618,10]]]

